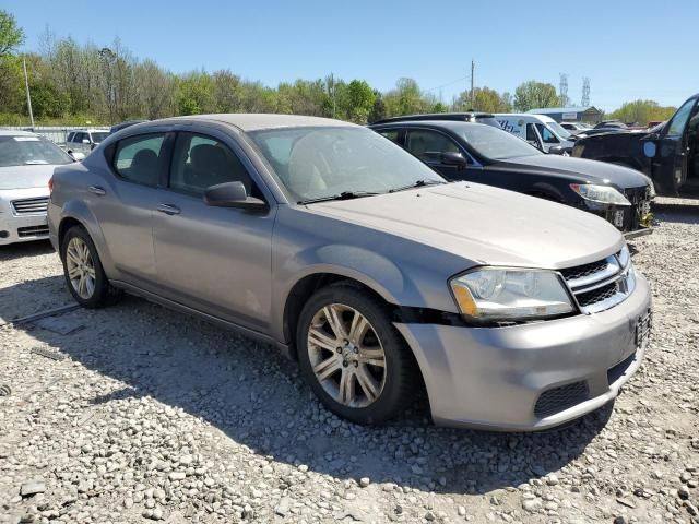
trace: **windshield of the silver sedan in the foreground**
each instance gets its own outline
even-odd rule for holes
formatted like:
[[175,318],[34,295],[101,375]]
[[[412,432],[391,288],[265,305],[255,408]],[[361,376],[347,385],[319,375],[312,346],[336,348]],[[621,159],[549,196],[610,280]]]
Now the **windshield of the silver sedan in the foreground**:
[[401,146],[365,128],[284,128],[248,135],[296,202],[443,181]]

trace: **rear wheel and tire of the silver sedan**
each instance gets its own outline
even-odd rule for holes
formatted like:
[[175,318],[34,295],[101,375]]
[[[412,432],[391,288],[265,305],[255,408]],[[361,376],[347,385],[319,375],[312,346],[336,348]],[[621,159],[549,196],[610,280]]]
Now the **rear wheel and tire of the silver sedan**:
[[97,249],[83,227],[73,226],[66,233],[60,253],[68,290],[82,307],[99,308],[120,296],[109,284]]

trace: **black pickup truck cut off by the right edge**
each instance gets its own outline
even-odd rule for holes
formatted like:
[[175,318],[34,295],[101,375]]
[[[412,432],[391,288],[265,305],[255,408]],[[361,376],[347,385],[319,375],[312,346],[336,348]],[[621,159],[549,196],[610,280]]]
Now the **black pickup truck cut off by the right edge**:
[[659,194],[699,191],[699,94],[651,129],[619,130],[580,140],[573,156],[632,167],[653,179]]

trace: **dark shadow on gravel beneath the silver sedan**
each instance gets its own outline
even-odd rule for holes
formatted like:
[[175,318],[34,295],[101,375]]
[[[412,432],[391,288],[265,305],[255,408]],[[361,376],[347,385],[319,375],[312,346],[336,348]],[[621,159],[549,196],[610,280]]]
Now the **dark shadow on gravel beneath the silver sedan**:
[[[0,302],[54,278],[60,277],[0,289]],[[61,321],[81,329],[69,335],[32,324],[17,329],[119,381],[83,407],[108,409],[110,403],[152,397],[256,453],[341,479],[369,477],[441,493],[518,486],[581,455],[612,413],[607,406],[547,432],[493,433],[437,428],[423,402],[387,426],[360,427],[325,410],[279,352],[203,321],[134,297],[103,310],[71,311]],[[215,453],[217,441],[205,440],[201,445]]]

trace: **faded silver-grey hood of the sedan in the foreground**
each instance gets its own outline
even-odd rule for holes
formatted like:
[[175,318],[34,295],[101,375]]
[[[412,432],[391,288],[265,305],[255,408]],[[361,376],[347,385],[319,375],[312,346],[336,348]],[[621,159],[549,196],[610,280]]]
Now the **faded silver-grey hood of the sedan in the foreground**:
[[621,234],[593,214],[471,182],[322,202],[308,210],[475,264],[569,267],[600,260],[624,246]]

